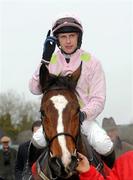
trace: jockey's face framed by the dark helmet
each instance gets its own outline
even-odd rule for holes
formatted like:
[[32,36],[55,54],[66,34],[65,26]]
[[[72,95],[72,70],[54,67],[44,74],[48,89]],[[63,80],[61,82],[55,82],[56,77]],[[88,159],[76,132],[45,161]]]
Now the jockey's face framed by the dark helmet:
[[71,54],[77,48],[78,42],[78,33],[59,33],[58,34],[58,41],[60,44],[60,48],[66,53]]

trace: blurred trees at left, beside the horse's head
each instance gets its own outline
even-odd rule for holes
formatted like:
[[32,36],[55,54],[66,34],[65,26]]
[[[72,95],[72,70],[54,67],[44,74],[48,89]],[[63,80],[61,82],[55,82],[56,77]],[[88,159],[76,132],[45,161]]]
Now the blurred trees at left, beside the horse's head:
[[[40,118],[39,103],[27,101],[14,91],[0,94],[1,129],[11,136],[31,129],[33,121]],[[16,137],[15,137],[16,138]]]

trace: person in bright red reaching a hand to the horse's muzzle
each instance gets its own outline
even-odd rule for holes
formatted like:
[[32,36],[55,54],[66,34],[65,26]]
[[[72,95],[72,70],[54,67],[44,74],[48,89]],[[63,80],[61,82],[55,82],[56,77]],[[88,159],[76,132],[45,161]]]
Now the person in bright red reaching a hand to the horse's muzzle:
[[80,180],[132,180],[133,179],[133,151],[125,152],[120,155],[109,174],[103,177],[95,167],[89,164],[88,159],[79,154],[79,164],[77,171],[79,172]]

